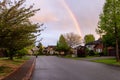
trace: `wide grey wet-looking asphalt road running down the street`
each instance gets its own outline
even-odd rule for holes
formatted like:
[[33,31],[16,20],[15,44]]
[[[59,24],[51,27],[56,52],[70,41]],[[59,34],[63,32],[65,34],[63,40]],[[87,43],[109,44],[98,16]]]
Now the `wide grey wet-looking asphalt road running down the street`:
[[120,80],[120,67],[41,56],[36,59],[32,80]]

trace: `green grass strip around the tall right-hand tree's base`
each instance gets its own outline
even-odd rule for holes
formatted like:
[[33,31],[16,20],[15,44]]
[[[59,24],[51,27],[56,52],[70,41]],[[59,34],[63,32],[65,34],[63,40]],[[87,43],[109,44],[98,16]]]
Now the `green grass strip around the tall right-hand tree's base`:
[[93,62],[98,63],[105,63],[105,64],[112,64],[112,65],[119,65],[120,62],[116,62],[116,58],[109,58],[109,59],[99,59],[99,60],[92,60]]

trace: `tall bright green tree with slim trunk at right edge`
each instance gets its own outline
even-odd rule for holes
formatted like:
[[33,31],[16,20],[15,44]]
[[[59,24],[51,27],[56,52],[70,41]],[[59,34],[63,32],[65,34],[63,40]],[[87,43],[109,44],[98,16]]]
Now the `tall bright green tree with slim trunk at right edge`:
[[120,39],[120,0],[106,0],[100,15],[99,29],[104,34],[115,36],[116,60],[120,61],[118,40]]

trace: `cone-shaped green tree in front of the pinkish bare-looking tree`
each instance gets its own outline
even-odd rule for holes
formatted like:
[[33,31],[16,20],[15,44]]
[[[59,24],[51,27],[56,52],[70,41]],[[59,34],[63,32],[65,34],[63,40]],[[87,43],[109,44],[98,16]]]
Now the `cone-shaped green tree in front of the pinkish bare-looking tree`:
[[56,49],[57,51],[64,51],[64,52],[69,51],[70,47],[68,46],[63,35],[60,36],[59,41],[57,42]]

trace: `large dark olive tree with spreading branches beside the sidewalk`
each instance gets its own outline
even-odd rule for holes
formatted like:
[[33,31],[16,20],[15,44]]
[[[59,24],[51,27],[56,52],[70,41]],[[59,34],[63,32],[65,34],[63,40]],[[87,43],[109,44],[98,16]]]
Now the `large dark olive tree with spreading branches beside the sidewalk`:
[[26,0],[0,2],[0,47],[9,50],[12,60],[16,51],[34,44],[34,33],[40,33],[39,24],[33,24],[29,18],[34,16],[39,9],[33,10],[33,5],[28,8],[23,6]]

